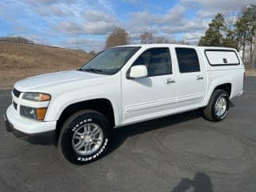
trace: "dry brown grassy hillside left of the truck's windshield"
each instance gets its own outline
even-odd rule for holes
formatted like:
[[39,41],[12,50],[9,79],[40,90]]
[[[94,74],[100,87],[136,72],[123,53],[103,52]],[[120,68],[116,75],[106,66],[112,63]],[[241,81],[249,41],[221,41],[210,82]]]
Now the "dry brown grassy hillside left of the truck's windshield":
[[54,46],[0,42],[0,89],[36,74],[77,69],[92,57],[86,52]]

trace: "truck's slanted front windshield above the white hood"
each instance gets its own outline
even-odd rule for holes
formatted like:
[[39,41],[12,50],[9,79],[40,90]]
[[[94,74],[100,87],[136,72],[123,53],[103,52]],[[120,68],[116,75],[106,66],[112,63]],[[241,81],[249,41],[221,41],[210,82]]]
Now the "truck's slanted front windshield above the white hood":
[[97,74],[115,74],[140,47],[115,47],[104,50],[87,62],[80,70]]

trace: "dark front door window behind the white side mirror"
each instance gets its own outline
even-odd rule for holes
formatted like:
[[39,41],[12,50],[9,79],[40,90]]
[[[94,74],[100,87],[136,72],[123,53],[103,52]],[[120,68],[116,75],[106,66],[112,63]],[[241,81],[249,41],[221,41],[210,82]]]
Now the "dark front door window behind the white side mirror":
[[145,65],[148,77],[172,74],[169,48],[152,48],[143,52],[133,66]]

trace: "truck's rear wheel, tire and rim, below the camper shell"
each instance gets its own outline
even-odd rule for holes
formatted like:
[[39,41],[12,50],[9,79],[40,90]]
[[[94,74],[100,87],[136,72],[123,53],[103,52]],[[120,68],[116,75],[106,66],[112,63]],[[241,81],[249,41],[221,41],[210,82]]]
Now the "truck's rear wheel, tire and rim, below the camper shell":
[[203,110],[204,117],[211,122],[219,122],[226,118],[229,110],[230,96],[225,90],[214,90],[208,106]]

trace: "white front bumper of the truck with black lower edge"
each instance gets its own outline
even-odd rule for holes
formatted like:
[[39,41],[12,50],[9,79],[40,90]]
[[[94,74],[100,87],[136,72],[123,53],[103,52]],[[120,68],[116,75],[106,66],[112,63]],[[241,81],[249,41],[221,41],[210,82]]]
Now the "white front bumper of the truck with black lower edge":
[[4,115],[6,130],[19,135],[34,135],[54,132],[57,122],[38,122],[20,116],[13,105],[10,105]]

